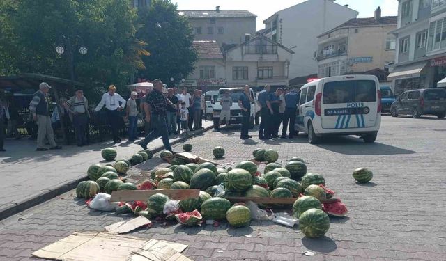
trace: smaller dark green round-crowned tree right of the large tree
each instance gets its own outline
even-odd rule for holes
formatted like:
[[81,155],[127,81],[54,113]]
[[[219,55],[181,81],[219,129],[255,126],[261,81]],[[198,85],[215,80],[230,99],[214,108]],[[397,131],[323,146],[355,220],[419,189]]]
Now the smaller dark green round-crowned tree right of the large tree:
[[137,38],[148,43],[151,55],[144,56],[145,70],[138,76],[145,79],[160,78],[176,83],[194,70],[198,60],[192,45],[194,37],[186,17],[178,15],[177,6],[170,0],[153,0],[149,8],[138,13]]

